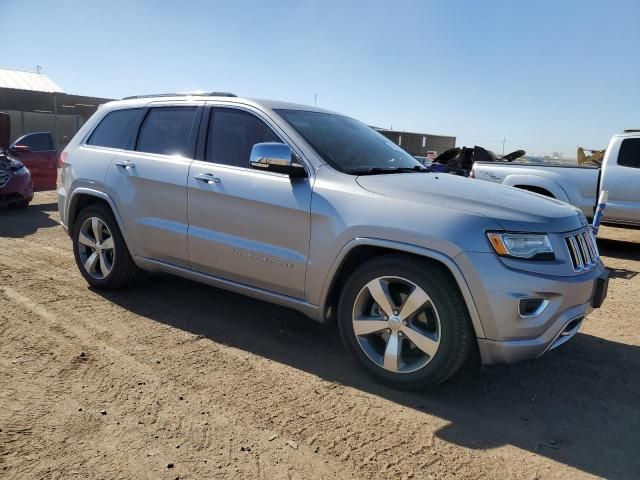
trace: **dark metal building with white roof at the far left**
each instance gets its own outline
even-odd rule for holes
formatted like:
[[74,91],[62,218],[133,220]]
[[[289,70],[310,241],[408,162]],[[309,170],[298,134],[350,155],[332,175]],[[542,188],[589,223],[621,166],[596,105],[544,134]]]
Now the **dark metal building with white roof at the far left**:
[[51,132],[61,151],[102,103],[70,95],[42,73],[0,69],[0,111],[11,116],[11,142],[30,132]]

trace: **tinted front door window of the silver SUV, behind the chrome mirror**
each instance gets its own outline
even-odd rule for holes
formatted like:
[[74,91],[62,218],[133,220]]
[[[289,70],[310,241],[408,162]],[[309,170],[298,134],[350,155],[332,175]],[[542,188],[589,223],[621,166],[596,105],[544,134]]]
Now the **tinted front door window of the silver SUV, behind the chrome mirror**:
[[256,143],[282,141],[262,120],[251,113],[216,108],[209,122],[207,161],[249,168]]

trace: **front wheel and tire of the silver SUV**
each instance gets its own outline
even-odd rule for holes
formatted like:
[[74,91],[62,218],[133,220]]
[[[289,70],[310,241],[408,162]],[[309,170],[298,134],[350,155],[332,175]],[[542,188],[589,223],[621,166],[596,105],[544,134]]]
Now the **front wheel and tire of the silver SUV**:
[[[386,303],[383,308],[374,295]],[[369,374],[409,390],[445,381],[462,366],[475,341],[469,312],[449,272],[401,254],[374,258],[355,270],[340,297],[338,326],[347,350]]]

